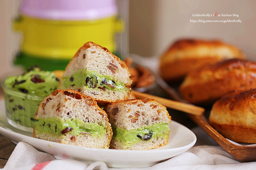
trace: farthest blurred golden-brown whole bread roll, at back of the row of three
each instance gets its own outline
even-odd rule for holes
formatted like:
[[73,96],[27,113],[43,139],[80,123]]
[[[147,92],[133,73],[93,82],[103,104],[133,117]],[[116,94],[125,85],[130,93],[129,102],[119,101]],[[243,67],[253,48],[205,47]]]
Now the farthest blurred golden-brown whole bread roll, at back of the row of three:
[[245,58],[240,49],[217,40],[181,39],[161,56],[160,75],[166,81],[182,79],[204,64],[231,58]]

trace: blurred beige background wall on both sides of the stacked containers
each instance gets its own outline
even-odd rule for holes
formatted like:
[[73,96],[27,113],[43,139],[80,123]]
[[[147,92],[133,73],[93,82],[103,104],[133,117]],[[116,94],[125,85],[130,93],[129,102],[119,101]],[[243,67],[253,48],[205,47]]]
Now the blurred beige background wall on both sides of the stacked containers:
[[[12,19],[18,16],[20,1],[0,1],[0,72],[2,75],[20,70],[13,66],[13,57],[19,50],[21,35],[12,30]],[[129,53],[142,56],[160,55],[180,37],[218,38],[243,49],[249,59],[256,60],[256,1],[254,0],[117,0],[129,11],[126,17]],[[241,23],[193,23],[191,20],[215,20],[214,17],[193,17],[193,14],[238,14]]]

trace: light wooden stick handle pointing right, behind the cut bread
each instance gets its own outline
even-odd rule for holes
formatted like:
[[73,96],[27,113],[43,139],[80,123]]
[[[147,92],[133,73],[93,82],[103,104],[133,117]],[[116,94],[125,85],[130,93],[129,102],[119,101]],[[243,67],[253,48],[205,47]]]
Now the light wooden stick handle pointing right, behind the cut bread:
[[192,104],[182,103],[179,101],[169,100],[162,97],[154,96],[147,93],[137,92],[135,90],[132,90],[131,93],[137,98],[137,99],[145,99],[147,97],[150,97],[151,99],[154,99],[156,102],[161,103],[165,107],[179,110],[182,112],[189,113],[191,115],[201,116],[204,114],[204,108],[198,107]]

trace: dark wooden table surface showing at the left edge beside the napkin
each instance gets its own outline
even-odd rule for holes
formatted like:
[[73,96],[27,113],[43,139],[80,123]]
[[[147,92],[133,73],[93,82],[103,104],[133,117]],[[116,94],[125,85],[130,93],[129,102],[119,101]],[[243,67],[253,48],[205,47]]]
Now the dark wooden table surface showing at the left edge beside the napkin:
[[[0,100],[4,100],[2,88],[0,88]],[[0,135],[0,168],[4,167],[15,146],[8,138]]]

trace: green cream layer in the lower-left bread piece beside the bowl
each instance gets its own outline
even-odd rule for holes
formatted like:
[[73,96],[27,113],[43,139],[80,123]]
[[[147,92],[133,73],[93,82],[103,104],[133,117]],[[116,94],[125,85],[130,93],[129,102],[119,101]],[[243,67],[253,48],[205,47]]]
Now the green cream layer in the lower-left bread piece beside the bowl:
[[36,129],[37,133],[47,133],[53,136],[63,136],[65,134],[81,136],[83,134],[90,134],[93,137],[100,137],[107,133],[103,126],[96,123],[85,123],[79,119],[38,119]]

